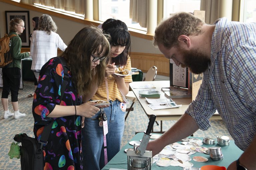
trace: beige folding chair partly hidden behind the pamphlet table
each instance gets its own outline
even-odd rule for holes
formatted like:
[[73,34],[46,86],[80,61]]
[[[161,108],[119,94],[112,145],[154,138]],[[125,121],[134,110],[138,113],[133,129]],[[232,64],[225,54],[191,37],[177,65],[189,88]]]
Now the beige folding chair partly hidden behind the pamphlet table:
[[[154,81],[156,79],[156,76],[157,76],[157,67],[153,66],[148,70],[148,72],[147,72],[143,81]],[[130,108],[127,108],[128,112],[127,112],[127,114],[124,118],[124,121],[126,120],[130,111],[132,110],[134,103],[137,101],[137,98],[136,98],[133,91],[129,91],[128,94],[125,97],[131,99],[133,101],[133,103],[131,104]]]

